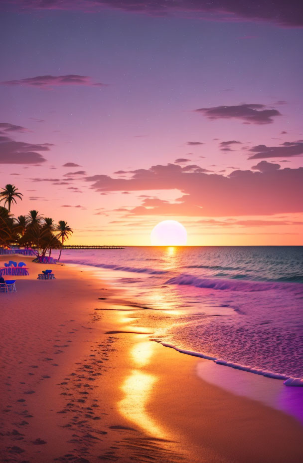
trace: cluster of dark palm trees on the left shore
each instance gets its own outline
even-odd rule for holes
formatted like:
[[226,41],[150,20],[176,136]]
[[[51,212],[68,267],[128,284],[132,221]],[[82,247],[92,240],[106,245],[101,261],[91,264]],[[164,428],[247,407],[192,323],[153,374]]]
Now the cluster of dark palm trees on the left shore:
[[28,214],[14,217],[10,212],[11,204],[16,204],[15,198],[22,200],[22,194],[14,185],[6,185],[0,192],[0,248],[10,246],[31,247],[36,252],[36,258],[44,257],[52,249],[60,249],[73,233],[67,222],[59,221],[55,224],[50,217],[43,217],[38,211],[32,210]]

